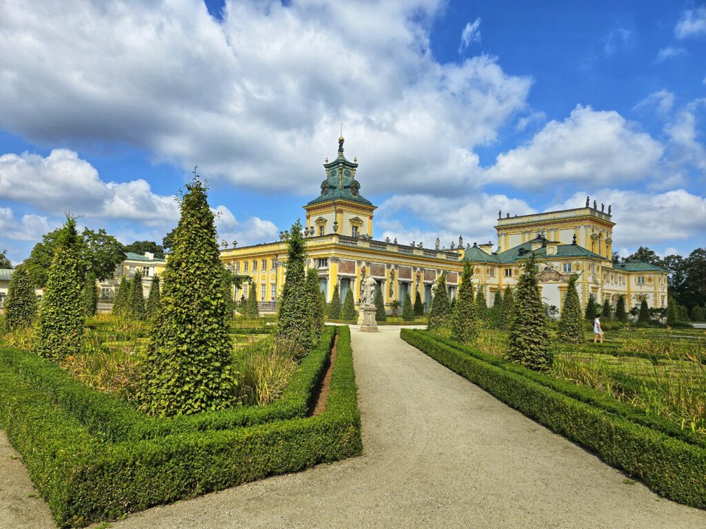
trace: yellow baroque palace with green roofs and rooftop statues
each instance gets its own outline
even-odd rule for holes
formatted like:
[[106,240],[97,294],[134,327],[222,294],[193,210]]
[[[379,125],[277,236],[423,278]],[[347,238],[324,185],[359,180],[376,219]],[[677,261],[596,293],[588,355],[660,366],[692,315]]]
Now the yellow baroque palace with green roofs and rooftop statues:
[[[493,303],[498,288],[514,286],[520,265],[530,254],[537,257],[544,303],[561,310],[566,282],[570,274],[579,274],[579,295],[586,303],[591,294],[598,303],[609,298],[615,305],[618,296],[626,296],[626,308],[647,300],[650,307],[666,307],[666,270],[649,263],[611,261],[611,206],[604,211],[586,199],[585,207],[532,215],[502,217],[498,212],[498,243],[458,244],[441,248],[437,238],[434,248],[402,244],[395,239],[373,239],[373,212],[376,209],[361,194],[356,179],[357,158],[349,162],[343,154],[344,139],[338,139],[338,154],[333,162],[325,160],[325,180],[321,193],[304,206],[309,266],[318,271],[321,291],[330,301],[335,288],[341,302],[352,289],[359,301],[361,278],[370,275],[383,292],[385,308],[405,296],[414,302],[417,294],[429,308],[431,287],[442,272],[447,272],[448,295],[454,297],[464,261],[473,267],[473,283],[485,289],[486,300]],[[247,297],[248,288],[256,288],[260,308],[276,310],[277,296],[284,284],[287,243],[280,241],[224,248],[221,260],[237,274],[249,275],[251,284],[234,292],[237,299]],[[493,248],[495,246],[495,248]]]

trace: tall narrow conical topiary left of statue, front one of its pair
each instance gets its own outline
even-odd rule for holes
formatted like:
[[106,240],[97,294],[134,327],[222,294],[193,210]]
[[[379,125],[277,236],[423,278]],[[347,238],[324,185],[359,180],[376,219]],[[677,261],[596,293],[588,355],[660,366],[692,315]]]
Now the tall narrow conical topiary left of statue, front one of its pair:
[[[306,239],[301,221],[292,224],[287,240],[287,276],[280,297],[279,334],[310,351],[315,340],[311,332],[311,296],[306,287]],[[304,324],[302,324],[304,322]]]

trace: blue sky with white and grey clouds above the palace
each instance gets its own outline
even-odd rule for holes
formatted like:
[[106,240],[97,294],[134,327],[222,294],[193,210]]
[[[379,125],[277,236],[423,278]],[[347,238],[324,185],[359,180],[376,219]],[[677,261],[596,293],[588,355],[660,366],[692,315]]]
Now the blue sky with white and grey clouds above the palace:
[[496,241],[612,206],[614,250],[706,246],[706,3],[5,0],[0,250],[66,213],[160,242],[198,174],[219,238],[278,238],[345,137],[373,236]]

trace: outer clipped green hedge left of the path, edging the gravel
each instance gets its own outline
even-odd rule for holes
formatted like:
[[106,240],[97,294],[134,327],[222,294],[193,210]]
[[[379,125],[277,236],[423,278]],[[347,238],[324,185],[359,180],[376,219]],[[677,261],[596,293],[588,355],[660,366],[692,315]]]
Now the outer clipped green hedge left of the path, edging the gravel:
[[111,442],[0,366],[0,426],[61,527],[355,456],[362,443],[350,335],[338,333],[330,394],[315,417]]

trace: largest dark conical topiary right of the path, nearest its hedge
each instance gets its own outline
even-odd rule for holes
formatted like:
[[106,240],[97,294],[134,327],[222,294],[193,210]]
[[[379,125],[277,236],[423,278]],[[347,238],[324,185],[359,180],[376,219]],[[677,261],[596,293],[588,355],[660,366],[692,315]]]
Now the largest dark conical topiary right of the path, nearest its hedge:
[[515,288],[515,322],[510,331],[508,358],[532,370],[551,367],[546,315],[539,297],[534,253],[525,262]]

